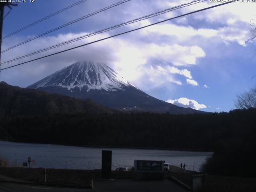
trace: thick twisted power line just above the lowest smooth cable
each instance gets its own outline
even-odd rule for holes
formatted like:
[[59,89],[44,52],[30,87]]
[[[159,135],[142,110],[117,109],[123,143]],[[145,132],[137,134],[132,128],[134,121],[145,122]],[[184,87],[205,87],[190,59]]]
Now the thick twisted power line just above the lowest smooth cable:
[[178,6],[175,6],[175,7],[172,7],[172,8],[168,8],[168,9],[165,9],[165,10],[161,10],[161,11],[158,11],[158,12],[155,12],[153,14],[148,14],[146,16],[143,16],[143,17],[140,17],[140,18],[136,18],[134,20],[130,20],[128,22],[124,22],[124,23],[121,23],[121,24],[117,24],[117,25],[114,25],[112,27],[109,27],[109,28],[106,28],[106,29],[103,29],[103,30],[99,30],[97,32],[93,32],[93,33],[90,33],[90,34],[86,34],[84,36],[80,36],[78,38],[74,38],[74,39],[71,39],[71,40],[68,40],[68,41],[65,41],[65,42],[62,42],[62,43],[59,43],[59,44],[56,44],[56,45],[53,45],[53,46],[49,46],[47,48],[44,48],[44,49],[41,49],[41,50],[37,50],[35,52],[31,52],[29,54],[26,54],[26,55],[23,55],[23,56],[19,56],[19,57],[16,57],[16,58],[13,58],[13,59],[10,59],[10,60],[6,60],[4,62],[2,62],[1,64],[6,64],[6,63],[10,63],[10,62],[14,62],[16,60],[20,60],[20,59],[23,59],[23,58],[26,58],[28,56],[32,56],[32,55],[35,55],[35,54],[39,54],[41,52],[45,52],[47,50],[51,50],[53,48],[56,48],[56,47],[60,47],[60,46],[63,46],[63,45],[66,45],[66,44],[70,44],[72,42],[76,42],[76,41],[79,41],[79,40],[82,40],[84,38],[88,38],[90,36],[94,36],[94,35],[97,35],[97,34],[101,34],[101,33],[104,33],[104,32],[107,32],[107,31],[110,31],[110,30],[114,30],[116,28],[119,28],[119,27],[122,27],[122,26],[126,26],[128,24],[132,24],[132,23],[135,23],[135,22],[139,22],[139,21],[142,21],[142,20],[145,20],[145,19],[148,19],[148,18],[152,18],[152,17],[155,17],[155,16],[158,16],[160,14],[164,14],[166,12],[170,12],[170,11],[173,11],[173,10],[176,10],[176,9],[180,9],[180,8],[184,8],[186,6],[190,6],[190,5],[193,5],[193,4],[197,4],[197,3],[200,3],[200,2],[204,2],[204,1],[207,1],[207,0],[194,0],[192,2],[189,2],[189,3],[186,3],[186,4],[181,4],[181,5],[178,5]]

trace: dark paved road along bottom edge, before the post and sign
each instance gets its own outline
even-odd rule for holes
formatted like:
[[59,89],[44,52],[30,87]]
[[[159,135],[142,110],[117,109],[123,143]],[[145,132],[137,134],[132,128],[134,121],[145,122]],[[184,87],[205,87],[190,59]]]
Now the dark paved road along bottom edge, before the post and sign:
[[0,182],[0,192],[187,192],[170,180],[134,181],[116,179],[115,181],[94,181],[94,189],[56,188],[31,184]]

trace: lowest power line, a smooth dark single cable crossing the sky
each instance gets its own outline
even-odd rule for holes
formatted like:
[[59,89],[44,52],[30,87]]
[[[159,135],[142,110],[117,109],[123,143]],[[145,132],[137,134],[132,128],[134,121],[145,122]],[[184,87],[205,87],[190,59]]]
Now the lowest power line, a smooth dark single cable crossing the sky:
[[39,60],[39,59],[42,59],[42,58],[46,58],[46,57],[49,57],[49,56],[53,56],[53,55],[56,55],[56,54],[60,54],[60,53],[63,53],[63,52],[69,51],[69,50],[73,50],[73,49],[76,49],[76,48],[79,48],[79,47],[82,47],[82,46],[86,46],[86,45],[90,45],[90,44],[93,44],[93,43],[96,43],[96,42],[100,42],[100,41],[103,41],[103,40],[106,40],[106,39],[109,39],[109,38],[120,36],[120,35],[123,35],[123,34],[126,34],[126,33],[130,33],[130,32],[136,31],[136,30],[140,30],[140,29],[143,29],[143,28],[146,28],[146,27],[149,27],[149,26],[153,26],[153,25],[156,25],[156,24],[159,24],[159,23],[162,23],[162,22],[166,22],[166,21],[169,21],[169,20],[172,20],[172,19],[176,19],[176,18],[179,18],[179,17],[183,17],[183,16],[186,16],[186,15],[190,15],[190,14],[196,13],[196,12],[201,12],[201,11],[208,10],[208,9],[211,9],[211,8],[214,8],[214,7],[218,7],[218,6],[222,6],[222,5],[225,5],[225,4],[229,4],[229,3],[232,3],[232,1],[226,2],[226,3],[222,3],[222,4],[218,4],[218,5],[214,5],[214,6],[210,6],[210,7],[203,8],[203,9],[200,9],[200,10],[196,10],[196,11],[193,11],[193,12],[189,12],[189,13],[186,13],[186,14],[182,14],[182,15],[179,15],[179,16],[176,16],[176,17],[173,17],[173,18],[169,18],[169,19],[166,19],[166,20],[162,20],[162,21],[159,21],[159,22],[156,22],[156,23],[153,23],[153,24],[149,24],[149,25],[146,25],[146,26],[143,26],[143,27],[140,27],[140,28],[136,28],[136,29],[129,30],[129,31],[126,31],[126,32],[122,32],[122,33],[119,33],[119,34],[116,34],[116,35],[113,35],[113,36],[109,36],[109,37],[106,37],[106,38],[102,38],[102,39],[99,39],[99,40],[96,40],[96,41],[93,41],[93,42],[90,42],[90,43],[82,44],[80,46],[76,46],[76,47],[73,47],[73,48],[62,50],[60,52],[49,54],[49,55],[46,55],[46,56],[43,56],[43,57],[40,57],[40,58],[36,58],[36,59],[30,60],[30,61],[22,62],[20,64],[16,64],[16,65],[13,65],[13,66],[10,66],[10,67],[6,67],[6,68],[3,68],[3,69],[0,69],[0,71],[8,69],[8,68],[15,67],[15,66],[19,66],[19,65],[22,65],[22,64],[25,64],[25,63],[29,63],[29,62],[32,62],[32,61],[36,61],[36,60]]

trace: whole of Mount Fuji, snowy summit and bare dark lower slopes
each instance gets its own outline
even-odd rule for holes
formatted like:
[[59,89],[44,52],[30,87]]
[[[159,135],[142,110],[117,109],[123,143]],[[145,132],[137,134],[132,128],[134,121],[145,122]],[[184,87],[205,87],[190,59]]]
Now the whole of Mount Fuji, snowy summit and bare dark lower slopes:
[[92,100],[123,111],[172,114],[202,112],[158,100],[136,88],[105,64],[79,61],[28,86],[50,93]]

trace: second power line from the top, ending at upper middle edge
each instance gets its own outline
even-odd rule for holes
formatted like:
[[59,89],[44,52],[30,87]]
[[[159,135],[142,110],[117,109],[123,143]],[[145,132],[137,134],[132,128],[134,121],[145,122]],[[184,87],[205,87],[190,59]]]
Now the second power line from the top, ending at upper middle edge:
[[90,14],[88,14],[88,15],[86,15],[86,16],[83,16],[83,17],[80,17],[80,18],[78,18],[78,19],[76,19],[76,20],[70,21],[70,22],[68,22],[68,23],[66,23],[66,24],[63,24],[63,25],[61,25],[61,26],[58,26],[58,27],[56,27],[56,28],[54,28],[54,29],[52,29],[52,30],[49,30],[49,31],[44,32],[44,33],[42,33],[42,34],[40,34],[40,35],[37,35],[37,36],[35,36],[35,37],[33,37],[33,38],[30,38],[30,39],[28,39],[28,40],[26,40],[26,41],[24,41],[24,42],[21,42],[21,43],[19,43],[19,44],[16,44],[16,45],[14,45],[14,46],[11,46],[11,47],[9,47],[9,48],[3,50],[2,53],[3,53],[3,52],[6,52],[6,51],[8,51],[8,50],[10,50],[10,49],[12,49],[12,48],[14,48],[14,47],[20,46],[20,45],[22,45],[22,44],[25,44],[25,43],[30,42],[30,41],[32,41],[32,40],[35,40],[35,39],[37,39],[37,38],[39,38],[39,37],[42,37],[42,36],[44,36],[44,35],[46,35],[46,34],[48,34],[48,33],[54,32],[54,31],[56,31],[56,30],[58,30],[58,29],[60,29],[60,28],[66,27],[66,26],[71,25],[71,24],[73,24],[73,23],[75,23],[75,22],[78,22],[78,21],[80,21],[80,20],[83,20],[83,19],[85,19],[85,18],[88,18],[88,17],[90,17],[90,16],[93,16],[93,15],[95,15],[95,14],[98,14],[98,13],[100,13],[100,12],[102,12],[102,11],[108,10],[108,9],[110,9],[110,8],[113,8],[113,7],[115,7],[115,6],[118,6],[118,5],[123,4],[123,3],[125,3],[125,2],[128,2],[128,1],[130,1],[130,0],[122,0],[122,1],[120,1],[120,2],[118,2],[118,3],[116,3],[116,4],[112,4],[112,5],[110,5],[110,6],[107,6],[107,7],[103,8],[103,9],[100,9],[100,10],[98,10],[98,11],[95,11],[95,12],[93,12],[93,13],[90,13]]

